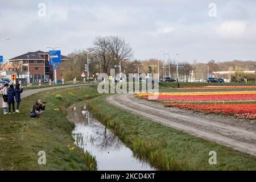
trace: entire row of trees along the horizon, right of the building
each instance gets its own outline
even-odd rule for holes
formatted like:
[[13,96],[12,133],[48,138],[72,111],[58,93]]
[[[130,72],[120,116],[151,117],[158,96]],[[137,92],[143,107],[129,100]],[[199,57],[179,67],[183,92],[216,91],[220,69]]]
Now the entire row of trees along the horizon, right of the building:
[[[87,56],[92,60],[89,64],[90,77],[97,75],[97,73],[107,73],[110,75],[110,69],[116,70],[119,73],[119,65],[121,64],[121,72],[125,73],[158,73],[160,78],[170,76],[176,78],[176,64],[163,63],[162,60],[132,60],[133,50],[129,43],[118,36],[98,36],[92,44],[92,47],[86,51],[74,51],[68,56],[72,58],[71,61],[65,63],[65,80],[72,80],[74,77],[80,79],[81,73],[84,71],[84,65],[87,64]],[[247,61],[248,62],[248,61]],[[207,80],[208,74],[216,71],[234,71],[237,70],[237,64],[244,64],[250,66],[250,69],[255,69],[255,65],[251,68],[251,61],[233,61],[225,63],[216,63],[210,60],[208,63],[197,63],[196,60],[189,64],[187,62],[179,63],[183,69],[179,69],[179,78],[181,80]],[[175,60],[174,60],[175,63]],[[255,63],[254,63],[255,64]],[[164,67],[164,68],[163,68]],[[170,68],[169,68],[170,67]],[[193,78],[191,72],[193,71]],[[165,73],[165,74],[164,74]]]

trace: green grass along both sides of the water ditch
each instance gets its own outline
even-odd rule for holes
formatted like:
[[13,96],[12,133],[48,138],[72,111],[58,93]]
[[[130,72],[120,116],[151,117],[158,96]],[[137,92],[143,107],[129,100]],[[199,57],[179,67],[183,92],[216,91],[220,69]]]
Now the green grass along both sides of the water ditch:
[[[57,97],[59,94],[61,97]],[[74,152],[72,131],[66,109],[87,102],[94,116],[105,123],[133,150],[134,156],[162,170],[255,170],[256,158],[220,144],[209,142],[149,119],[119,109],[97,93],[97,85],[54,89],[22,100],[21,114],[0,119],[1,170],[94,170],[96,160],[81,148]],[[34,102],[46,100],[42,118],[30,118]],[[38,164],[38,152],[46,151],[47,164]],[[217,152],[217,165],[208,163],[209,151]]]

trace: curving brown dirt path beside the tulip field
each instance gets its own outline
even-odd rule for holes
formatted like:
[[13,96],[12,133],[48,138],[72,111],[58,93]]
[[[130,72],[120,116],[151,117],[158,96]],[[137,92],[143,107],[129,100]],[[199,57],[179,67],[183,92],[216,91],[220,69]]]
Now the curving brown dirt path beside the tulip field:
[[116,94],[108,97],[107,100],[110,104],[152,121],[256,156],[255,123],[164,107],[156,102],[134,98],[133,94]]

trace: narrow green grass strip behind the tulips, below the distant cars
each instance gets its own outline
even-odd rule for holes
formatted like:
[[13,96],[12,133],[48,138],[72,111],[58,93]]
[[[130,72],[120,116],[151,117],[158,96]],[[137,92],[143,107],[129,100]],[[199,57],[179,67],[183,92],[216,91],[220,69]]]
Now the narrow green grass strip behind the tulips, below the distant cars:
[[[255,86],[256,84],[244,84],[244,83],[208,83],[208,82],[180,82],[180,88],[183,87],[197,87],[197,86]],[[159,82],[161,88],[177,88],[177,82]]]

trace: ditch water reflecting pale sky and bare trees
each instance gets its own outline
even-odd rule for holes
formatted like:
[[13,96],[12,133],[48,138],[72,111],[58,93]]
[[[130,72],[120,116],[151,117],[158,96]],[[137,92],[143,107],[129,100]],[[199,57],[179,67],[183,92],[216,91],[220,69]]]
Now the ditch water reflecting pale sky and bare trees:
[[69,109],[68,119],[76,125],[73,135],[77,146],[96,156],[99,170],[153,169],[146,162],[135,159],[130,148],[93,118],[86,106]]

